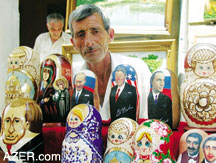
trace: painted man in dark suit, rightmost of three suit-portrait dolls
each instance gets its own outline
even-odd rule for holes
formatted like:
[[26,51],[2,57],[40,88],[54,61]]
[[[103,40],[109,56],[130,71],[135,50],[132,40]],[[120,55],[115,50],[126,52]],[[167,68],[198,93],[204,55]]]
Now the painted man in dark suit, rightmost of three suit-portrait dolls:
[[148,96],[148,118],[159,119],[172,128],[172,101],[163,94],[165,76],[162,71],[156,71],[150,78],[152,91]]

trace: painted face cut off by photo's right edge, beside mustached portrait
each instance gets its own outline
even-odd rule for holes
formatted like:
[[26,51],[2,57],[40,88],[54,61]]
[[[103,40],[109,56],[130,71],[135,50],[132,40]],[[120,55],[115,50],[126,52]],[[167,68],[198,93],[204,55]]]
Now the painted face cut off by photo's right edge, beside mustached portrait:
[[216,141],[209,140],[204,146],[204,155],[207,161],[216,161]]

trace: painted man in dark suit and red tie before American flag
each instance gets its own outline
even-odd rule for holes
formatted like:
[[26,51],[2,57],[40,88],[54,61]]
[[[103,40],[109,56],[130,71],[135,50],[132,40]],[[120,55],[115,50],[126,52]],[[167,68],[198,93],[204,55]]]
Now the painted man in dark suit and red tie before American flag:
[[116,86],[111,88],[110,93],[111,122],[121,117],[136,120],[136,87],[125,82],[126,77],[125,68],[118,67],[115,71]]

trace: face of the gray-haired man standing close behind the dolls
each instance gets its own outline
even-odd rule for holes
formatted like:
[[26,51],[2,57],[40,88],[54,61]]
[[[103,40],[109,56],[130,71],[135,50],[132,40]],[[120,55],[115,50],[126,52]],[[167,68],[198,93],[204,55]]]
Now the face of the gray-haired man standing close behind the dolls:
[[108,53],[110,34],[104,29],[102,18],[95,13],[85,19],[72,22],[72,43],[88,63],[97,63]]

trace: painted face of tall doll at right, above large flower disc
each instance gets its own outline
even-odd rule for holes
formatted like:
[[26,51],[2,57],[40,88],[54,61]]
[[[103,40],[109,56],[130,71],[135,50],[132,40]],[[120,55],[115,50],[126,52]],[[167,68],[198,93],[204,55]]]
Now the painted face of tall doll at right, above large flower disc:
[[214,66],[213,62],[208,63],[196,63],[195,71],[194,73],[200,77],[209,77],[214,73]]

